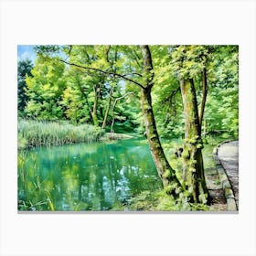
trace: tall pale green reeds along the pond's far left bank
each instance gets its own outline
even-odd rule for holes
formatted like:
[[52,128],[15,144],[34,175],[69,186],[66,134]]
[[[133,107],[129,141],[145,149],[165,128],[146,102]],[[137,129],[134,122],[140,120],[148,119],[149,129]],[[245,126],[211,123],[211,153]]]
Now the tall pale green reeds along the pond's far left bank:
[[101,128],[90,124],[18,120],[18,148],[51,144],[91,143],[103,135]]

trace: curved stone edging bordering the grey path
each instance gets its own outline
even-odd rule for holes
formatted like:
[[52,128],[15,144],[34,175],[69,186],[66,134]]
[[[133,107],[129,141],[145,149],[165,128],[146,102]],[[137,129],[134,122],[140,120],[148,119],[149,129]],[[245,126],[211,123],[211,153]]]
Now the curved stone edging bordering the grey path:
[[227,144],[229,142],[230,141],[223,142],[213,149],[213,159],[214,159],[214,162],[215,162],[218,174],[219,174],[219,180],[220,180],[220,183],[221,183],[223,191],[224,191],[224,196],[226,197],[226,200],[227,200],[228,211],[238,211],[238,207],[236,204],[233,189],[230,185],[227,173],[226,173],[225,169],[223,168],[223,166],[221,165],[219,156],[218,156],[219,147],[222,144]]

